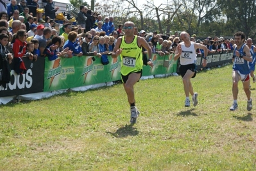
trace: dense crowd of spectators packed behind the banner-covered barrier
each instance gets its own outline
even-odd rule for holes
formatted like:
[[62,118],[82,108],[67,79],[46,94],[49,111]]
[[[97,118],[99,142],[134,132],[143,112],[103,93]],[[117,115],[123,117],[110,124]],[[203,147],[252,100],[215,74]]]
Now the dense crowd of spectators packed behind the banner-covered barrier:
[[[58,57],[94,55],[101,58],[103,65],[108,64],[107,55],[114,49],[117,38],[124,35],[122,24],[115,27],[114,17],[103,18],[99,13],[81,5],[76,26],[65,19],[63,26],[55,29],[55,13],[59,8],[55,8],[53,0],[44,2],[45,20],[42,20],[42,13],[38,12],[37,0],[21,0],[19,4],[11,0],[6,7],[0,6],[1,56],[9,63],[15,63],[17,74],[26,72],[23,57],[37,61],[41,57],[55,60]],[[157,31],[146,33],[135,28],[134,34],[144,37],[153,53],[161,56],[175,53],[180,42],[178,32],[175,35],[162,35]],[[7,43],[3,43],[2,40],[6,38]],[[209,53],[228,51],[234,44],[234,40],[223,37],[208,37],[201,41],[196,39],[196,35],[192,35],[191,41],[206,45]],[[143,49],[142,53],[147,52]],[[198,49],[197,53],[203,51]],[[13,54],[13,60],[10,54]]]

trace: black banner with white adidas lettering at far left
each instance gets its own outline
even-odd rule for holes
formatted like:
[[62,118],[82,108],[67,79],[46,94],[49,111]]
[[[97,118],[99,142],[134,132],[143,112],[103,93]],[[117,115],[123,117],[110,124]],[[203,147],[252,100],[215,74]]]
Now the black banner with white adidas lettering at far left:
[[0,97],[33,94],[42,92],[44,88],[44,58],[38,58],[37,61],[31,61],[28,58],[22,58],[25,63],[26,74],[17,75],[11,68],[11,81],[6,88],[0,86]]

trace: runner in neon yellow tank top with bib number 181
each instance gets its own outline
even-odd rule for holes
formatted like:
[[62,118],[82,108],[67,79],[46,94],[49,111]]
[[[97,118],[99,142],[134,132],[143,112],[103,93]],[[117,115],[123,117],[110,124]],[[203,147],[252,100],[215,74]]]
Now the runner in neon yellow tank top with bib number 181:
[[148,65],[151,67],[153,67],[151,61],[152,51],[144,38],[133,35],[135,30],[133,22],[125,22],[123,29],[125,35],[117,39],[112,52],[112,58],[117,58],[119,55],[121,57],[121,80],[130,104],[130,122],[131,124],[135,124],[137,122],[137,117],[139,117],[139,111],[135,106],[133,86],[142,76],[142,47],[148,51]]

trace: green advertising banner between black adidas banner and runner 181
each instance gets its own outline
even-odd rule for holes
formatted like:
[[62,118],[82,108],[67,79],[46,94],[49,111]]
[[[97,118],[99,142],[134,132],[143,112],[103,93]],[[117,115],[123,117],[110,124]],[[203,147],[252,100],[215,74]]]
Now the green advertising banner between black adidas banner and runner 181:
[[44,92],[95,85],[120,80],[120,58],[108,56],[108,65],[101,64],[101,58],[95,56],[73,56],[73,58],[57,58],[45,60]]

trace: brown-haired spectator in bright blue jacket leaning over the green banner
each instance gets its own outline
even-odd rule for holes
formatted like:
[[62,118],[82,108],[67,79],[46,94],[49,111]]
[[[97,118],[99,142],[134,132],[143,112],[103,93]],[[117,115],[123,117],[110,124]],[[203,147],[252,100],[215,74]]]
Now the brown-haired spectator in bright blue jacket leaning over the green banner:
[[83,44],[83,40],[80,39],[76,41],[78,37],[78,33],[76,31],[69,32],[67,35],[67,42],[65,42],[64,49],[69,47],[69,50],[73,51],[73,56],[82,56],[83,52],[81,51],[81,44]]

